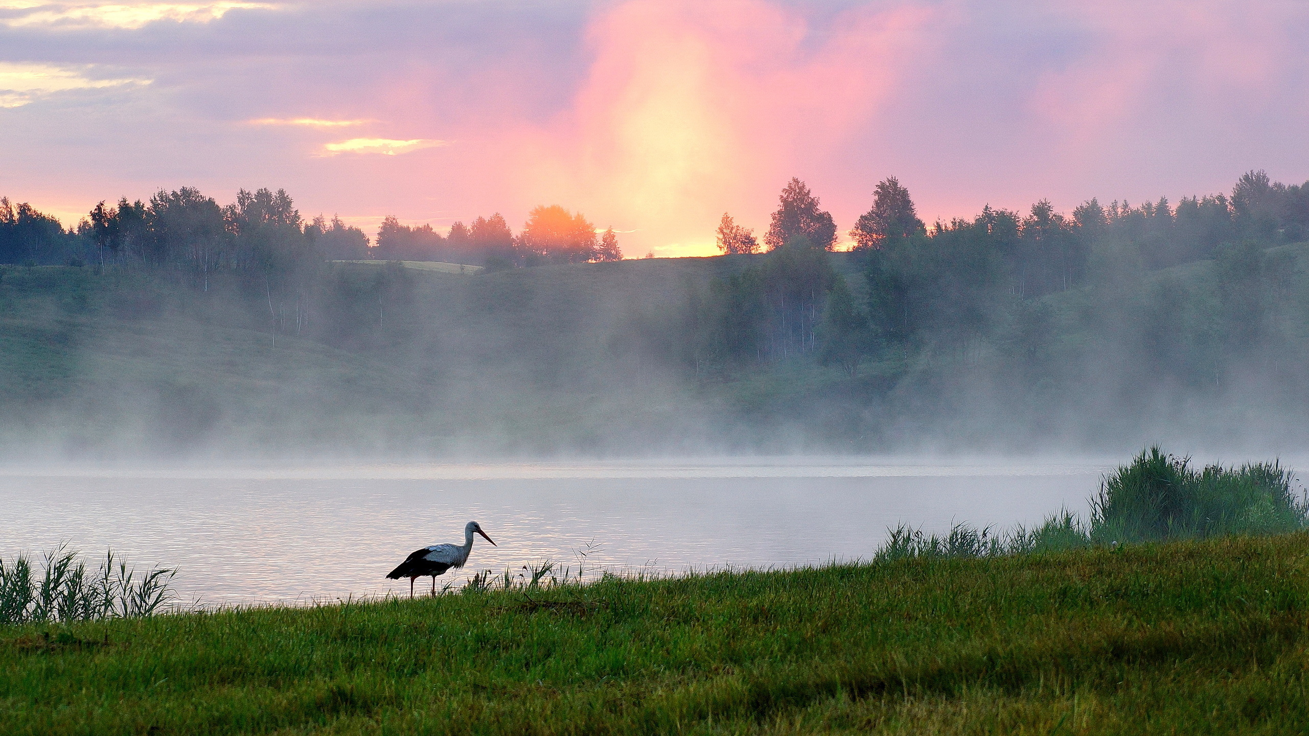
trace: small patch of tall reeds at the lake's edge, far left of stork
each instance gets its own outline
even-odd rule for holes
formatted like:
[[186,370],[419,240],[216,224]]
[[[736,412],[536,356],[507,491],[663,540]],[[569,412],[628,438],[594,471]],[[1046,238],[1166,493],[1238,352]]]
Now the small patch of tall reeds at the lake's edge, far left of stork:
[[46,553],[39,573],[22,553],[10,561],[0,558],[0,625],[161,613],[177,597],[170,587],[175,574],[170,567],[154,567],[139,575],[113,552],[92,573],[67,545]]

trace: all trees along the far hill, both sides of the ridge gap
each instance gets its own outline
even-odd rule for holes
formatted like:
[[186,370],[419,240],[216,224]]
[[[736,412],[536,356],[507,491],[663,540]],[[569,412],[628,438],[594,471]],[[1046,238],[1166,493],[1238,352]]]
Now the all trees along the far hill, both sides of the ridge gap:
[[[792,179],[762,237],[724,213],[719,247],[737,260],[689,295],[689,323],[678,329],[691,339],[674,353],[696,371],[805,358],[853,375],[869,357],[908,354],[924,336],[965,345],[1003,332],[1021,352],[1037,344],[1029,337],[1047,320],[1043,297],[1122,275],[1213,260],[1227,275],[1221,285],[1232,303],[1257,303],[1246,293],[1262,282],[1249,276],[1263,273],[1255,251],[1306,234],[1309,183],[1287,186],[1263,171],[1242,175],[1230,193],[1175,205],[1092,199],[1066,214],[1041,200],[1026,212],[987,205],[971,218],[931,226],[890,176],[847,230],[853,254],[836,261],[831,251],[840,238],[831,213]],[[558,205],[533,209],[518,233],[499,213],[456,222],[446,234],[387,217],[372,241],[338,217],[306,221],[283,190],[241,190],[225,205],[191,187],[148,201],[102,201],[68,230],[27,204],[0,199],[0,263],[141,264],[202,292],[215,281],[236,282],[281,332],[300,331],[314,314],[310,298],[315,309],[335,299],[359,312],[351,319],[360,329],[384,322],[382,286],[367,295],[352,295],[350,285],[329,289],[315,282],[323,260],[480,260],[508,268],[619,258],[611,229],[598,233],[581,213]]]

